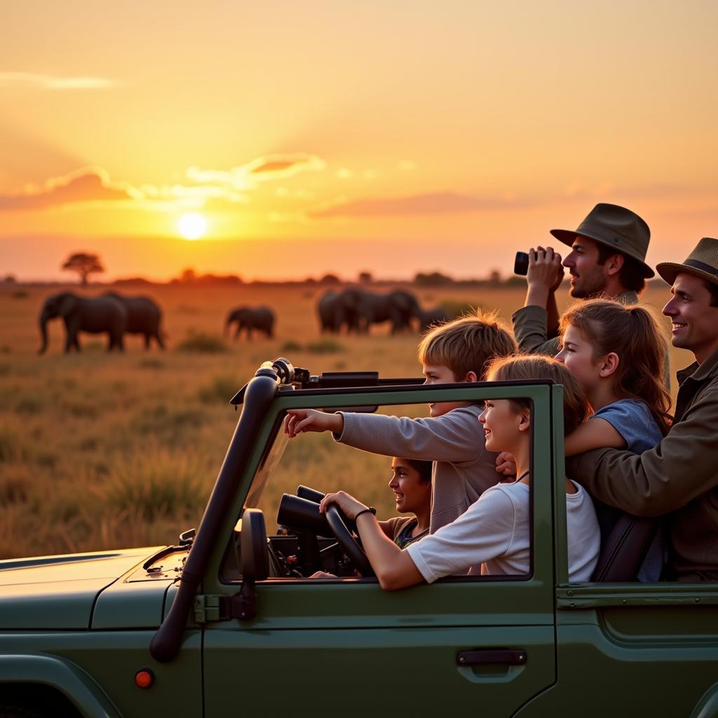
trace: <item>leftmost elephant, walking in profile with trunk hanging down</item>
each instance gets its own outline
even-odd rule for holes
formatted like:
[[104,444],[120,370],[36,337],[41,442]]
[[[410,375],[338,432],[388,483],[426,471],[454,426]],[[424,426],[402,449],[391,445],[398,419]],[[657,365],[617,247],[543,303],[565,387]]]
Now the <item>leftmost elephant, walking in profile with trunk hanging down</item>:
[[65,339],[65,353],[74,347],[80,351],[78,332],[102,334],[107,332],[107,350],[124,350],[122,335],[127,327],[127,309],[121,302],[113,297],[78,297],[72,292],[54,294],[45,299],[42,312],[39,316],[40,335],[42,346],[39,353],[47,350],[47,322],[62,317],[65,321],[67,337]]

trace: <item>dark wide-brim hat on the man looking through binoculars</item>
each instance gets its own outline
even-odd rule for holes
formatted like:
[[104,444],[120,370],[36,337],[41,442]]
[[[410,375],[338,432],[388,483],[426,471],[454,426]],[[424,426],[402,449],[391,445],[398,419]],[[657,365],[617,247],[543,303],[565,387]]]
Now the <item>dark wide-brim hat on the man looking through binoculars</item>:
[[552,229],[551,234],[569,247],[574,243],[577,234],[588,237],[635,259],[644,279],[651,279],[655,274],[653,269],[645,264],[651,230],[635,212],[625,207],[600,202],[579,224],[578,229]]

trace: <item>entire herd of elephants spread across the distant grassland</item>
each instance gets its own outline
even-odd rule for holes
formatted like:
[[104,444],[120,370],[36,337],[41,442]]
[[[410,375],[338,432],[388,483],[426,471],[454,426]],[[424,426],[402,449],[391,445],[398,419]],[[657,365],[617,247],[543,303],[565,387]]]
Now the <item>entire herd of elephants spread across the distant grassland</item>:
[[[414,328],[419,330],[449,319],[444,309],[421,309],[414,294],[396,289],[387,294],[376,294],[365,289],[349,287],[341,292],[326,292],[317,304],[322,333],[338,334],[342,330],[366,334],[371,325],[389,322],[392,334]],[[151,341],[164,349],[162,309],[149,297],[124,297],[106,292],[100,297],[80,297],[73,292],[62,292],[47,297],[39,316],[42,339],[39,353],[47,350],[47,322],[61,318],[65,322],[65,352],[80,351],[78,334],[107,334],[108,350],[123,350],[126,334],[144,336],[145,348]],[[251,339],[253,332],[268,338],[274,337],[274,312],[269,307],[236,307],[225,319],[224,332],[228,336],[234,327],[233,337],[245,332]]]

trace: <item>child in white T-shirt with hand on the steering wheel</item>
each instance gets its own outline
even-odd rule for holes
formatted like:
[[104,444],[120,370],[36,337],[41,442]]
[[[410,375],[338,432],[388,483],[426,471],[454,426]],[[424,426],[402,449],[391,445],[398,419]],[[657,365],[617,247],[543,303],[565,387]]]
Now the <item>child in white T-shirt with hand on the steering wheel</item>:
[[[558,361],[541,355],[496,360],[489,381],[552,379],[564,386],[564,431],[572,432],[588,413],[578,381]],[[381,586],[404,588],[426,580],[479,567],[482,574],[530,572],[529,457],[531,402],[527,399],[493,399],[480,416],[486,447],[510,452],[516,459],[515,482],[485,490],[465,513],[436,533],[399,549],[388,539],[373,513],[349,494],[328,494],[320,506],[337,503],[356,526],[368,559]],[[564,479],[569,538],[569,580],[587,581],[598,561],[600,532],[591,499],[575,482]]]

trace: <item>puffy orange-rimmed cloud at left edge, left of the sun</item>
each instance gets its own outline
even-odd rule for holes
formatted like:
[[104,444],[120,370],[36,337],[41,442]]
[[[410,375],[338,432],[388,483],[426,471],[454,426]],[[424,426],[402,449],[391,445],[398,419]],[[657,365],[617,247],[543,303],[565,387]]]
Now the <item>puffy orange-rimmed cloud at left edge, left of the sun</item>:
[[27,187],[16,195],[0,195],[0,211],[43,210],[76,202],[141,199],[126,182],[111,182],[101,167],[83,167],[63,177],[53,177],[41,187]]

